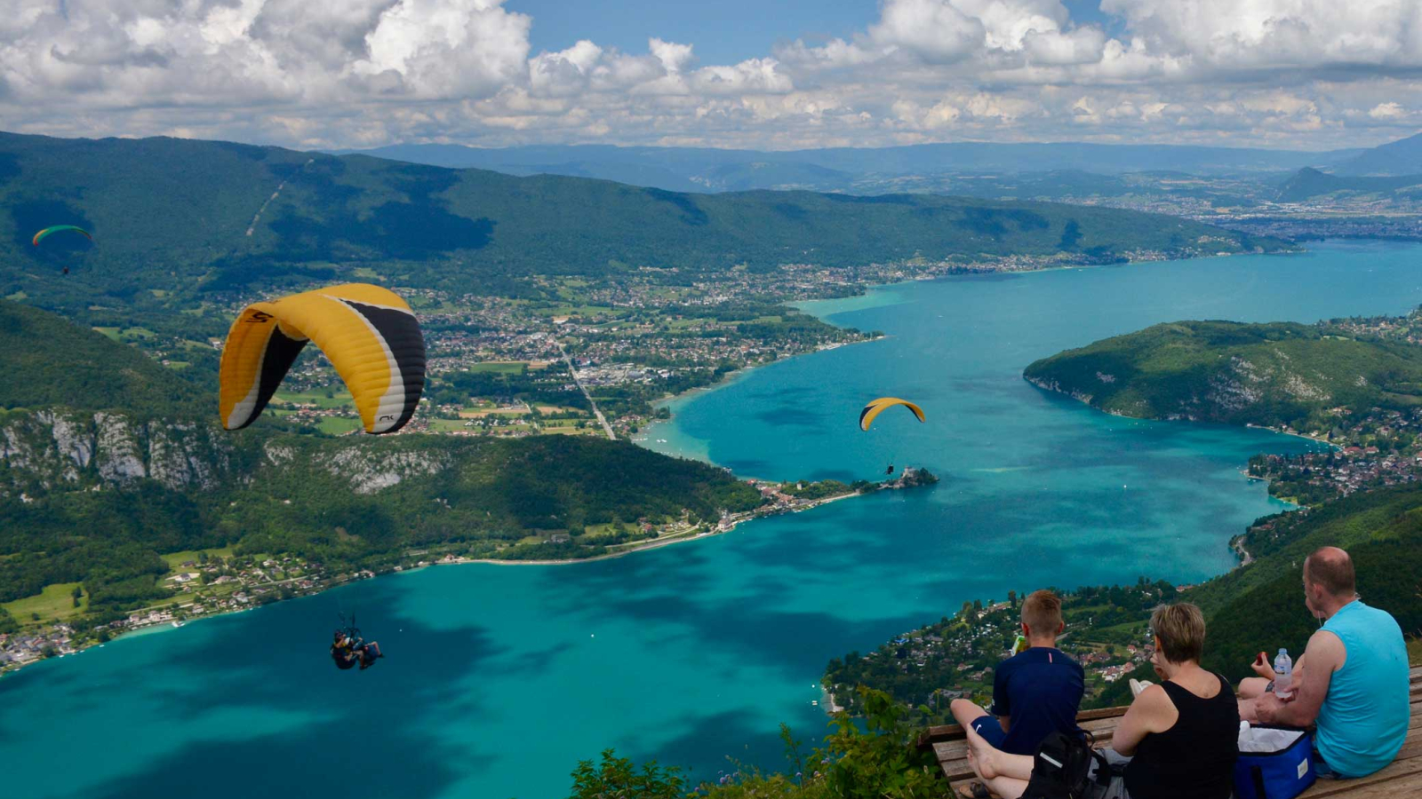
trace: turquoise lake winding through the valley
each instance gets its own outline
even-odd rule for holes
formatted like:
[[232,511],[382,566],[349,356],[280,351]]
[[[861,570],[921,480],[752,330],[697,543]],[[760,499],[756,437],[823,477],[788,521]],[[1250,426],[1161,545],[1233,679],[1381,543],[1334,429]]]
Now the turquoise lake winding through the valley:
[[[1035,358],[1159,321],[1404,313],[1422,247],[954,277],[809,303],[886,338],[782,361],[675,401],[644,444],[742,476],[931,489],[757,520],[630,557],[448,566],[159,628],[0,678],[0,786],[27,799],[199,792],[550,799],[609,746],[715,779],[818,741],[825,663],[1041,586],[1196,581],[1281,508],[1240,475],[1266,431],[1098,414],[1021,380]],[[929,414],[855,425],[866,400]],[[388,657],[337,672],[338,610]]]

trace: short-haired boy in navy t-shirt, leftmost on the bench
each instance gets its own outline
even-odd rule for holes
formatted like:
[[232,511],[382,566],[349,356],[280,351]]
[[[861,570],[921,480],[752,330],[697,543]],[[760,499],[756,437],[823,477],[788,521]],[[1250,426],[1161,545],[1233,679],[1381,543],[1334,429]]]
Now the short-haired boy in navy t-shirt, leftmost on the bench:
[[954,699],[953,718],[1014,755],[1035,754],[1052,732],[1079,729],[1076,711],[1086,691],[1086,672],[1057,648],[1057,636],[1065,628],[1062,600],[1057,594],[1030,594],[1022,600],[1022,634],[1028,648],[997,667],[991,715],[967,699]]

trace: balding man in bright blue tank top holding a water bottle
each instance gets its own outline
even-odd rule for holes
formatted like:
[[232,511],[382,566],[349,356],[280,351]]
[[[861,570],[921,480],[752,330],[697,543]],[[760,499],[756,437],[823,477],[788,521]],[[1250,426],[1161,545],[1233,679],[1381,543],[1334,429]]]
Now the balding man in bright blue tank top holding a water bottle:
[[[1244,680],[1240,718],[1287,726],[1317,724],[1318,775],[1367,776],[1391,763],[1408,735],[1402,628],[1388,611],[1358,599],[1352,559],[1334,546],[1304,560],[1304,604],[1324,626],[1294,667],[1293,697],[1276,697],[1264,677]],[[1258,663],[1256,670],[1264,672]]]

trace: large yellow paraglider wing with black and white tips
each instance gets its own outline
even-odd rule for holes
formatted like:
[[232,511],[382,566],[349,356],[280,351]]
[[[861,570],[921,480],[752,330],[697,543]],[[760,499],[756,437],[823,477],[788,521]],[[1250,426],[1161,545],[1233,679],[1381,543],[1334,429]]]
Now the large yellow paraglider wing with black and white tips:
[[222,350],[222,427],[242,429],[266,408],[296,357],[314,341],[346,381],[365,432],[395,432],[425,388],[425,340],[398,294],[368,283],[252,303]]

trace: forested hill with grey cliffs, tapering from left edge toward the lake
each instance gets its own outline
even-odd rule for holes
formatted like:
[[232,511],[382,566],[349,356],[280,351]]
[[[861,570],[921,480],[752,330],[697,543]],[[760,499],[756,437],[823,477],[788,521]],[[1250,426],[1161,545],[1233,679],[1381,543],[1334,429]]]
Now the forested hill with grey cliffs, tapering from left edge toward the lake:
[[[0,353],[0,601],[80,581],[91,611],[142,604],[166,596],[161,553],[205,546],[337,567],[431,545],[580,557],[603,552],[577,539],[589,526],[714,520],[761,502],[722,469],[600,438],[226,432],[210,392],[3,300]],[[573,540],[525,540],[552,533]]]

